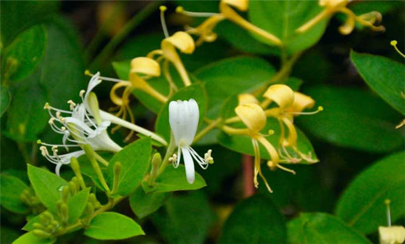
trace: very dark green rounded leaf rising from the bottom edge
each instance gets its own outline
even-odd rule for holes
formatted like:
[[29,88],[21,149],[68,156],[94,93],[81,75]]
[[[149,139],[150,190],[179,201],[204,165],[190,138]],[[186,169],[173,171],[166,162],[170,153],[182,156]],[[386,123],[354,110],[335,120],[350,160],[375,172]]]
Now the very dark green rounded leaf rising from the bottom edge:
[[237,204],[218,243],[286,243],[283,215],[272,201],[255,195]]

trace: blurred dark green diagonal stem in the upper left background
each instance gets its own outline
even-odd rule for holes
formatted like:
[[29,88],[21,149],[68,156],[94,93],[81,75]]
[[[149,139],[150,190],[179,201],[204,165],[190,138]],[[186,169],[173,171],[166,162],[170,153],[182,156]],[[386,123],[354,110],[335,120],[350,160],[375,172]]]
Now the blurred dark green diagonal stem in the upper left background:
[[154,11],[159,8],[163,2],[164,1],[152,1],[152,3],[149,3],[145,8],[142,8],[142,10],[140,10],[139,13],[132,18],[132,20],[126,23],[121,31],[110,40],[110,43],[105,45],[100,54],[98,54],[93,63],[91,63],[91,67],[98,66],[100,63],[103,63],[106,59],[108,59],[108,56],[110,56],[112,52],[114,52],[115,48],[117,48],[117,46],[123,40],[125,40],[126,36],[128,36],[133,29],[139,26],[143,20],[147,19],[149,15],[152,15],[152,13],[154,13]]

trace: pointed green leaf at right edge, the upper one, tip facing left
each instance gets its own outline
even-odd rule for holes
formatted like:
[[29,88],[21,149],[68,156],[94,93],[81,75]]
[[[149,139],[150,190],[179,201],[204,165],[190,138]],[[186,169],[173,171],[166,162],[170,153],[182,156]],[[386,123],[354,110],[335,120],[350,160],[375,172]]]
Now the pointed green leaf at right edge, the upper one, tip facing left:
[[403,63],[383,56],[351,52],[351,60],[364,81],[378,93],[385,102],[405,115]]

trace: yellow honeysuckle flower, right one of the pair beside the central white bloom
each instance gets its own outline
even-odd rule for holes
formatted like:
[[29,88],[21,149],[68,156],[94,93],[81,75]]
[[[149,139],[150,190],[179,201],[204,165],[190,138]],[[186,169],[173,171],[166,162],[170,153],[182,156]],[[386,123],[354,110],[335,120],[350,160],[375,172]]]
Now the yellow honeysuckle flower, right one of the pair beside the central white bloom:
[[[297,130],[295,129],[293,119],[294,116],[300,114],[315,114],[323,110],[323,107],[318,107],[318,110],[315,112],[302,112],[304,109],[314,107],[315,101],[302,93],[293,91],[289,86],[284,84],[275,84],[269,87],[267,91],[263,94],[265,101],[262,103],[263,107],[267,107],[271,102],[275,102],[278,107],[272,109],[266,109],[266,116],[272,116],[279,121],[281,137],[279,146],[281,151],[280,155],[283,155],[283,158],[290,160],[290,162],[300,162],[300,159],[294,158],[286,150],[286,146],[293,148],[293,150],[300,155],[301,158],[307,160],[307,162],[318,162],[311,158],[311,153],[305,155],[297,148]],[[285,128],[288,129],[288,136],[286,137]]]

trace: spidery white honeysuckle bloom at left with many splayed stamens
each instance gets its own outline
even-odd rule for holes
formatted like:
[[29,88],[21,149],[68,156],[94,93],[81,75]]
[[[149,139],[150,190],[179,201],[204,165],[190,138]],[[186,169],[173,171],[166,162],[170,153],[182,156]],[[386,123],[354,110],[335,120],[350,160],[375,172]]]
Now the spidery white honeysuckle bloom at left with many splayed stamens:
[[[101,82],[99,76],[100,73],[96,73],[91,77],[87,91],[80,91],[82,103],[76,105],[72,100],[68,101],[71,111],[45,104],[44,109],[48,110],[51,117],[48,123],[54,132],[63,135],[62,144],[47,144],[40,140],[38,143],[43,145],[40,146],[41,154],[57,165],[57,175],[59,175],[61,165],[67,165],[71,162],[72,157],[78,158],[84,154],[83,150],[79,150],[59,155],[59,146],[65,147],[67,151],[71,147],[80,148],[82,144],[89,144],[94,151],[117,152],[121,150],[121,147],[107,134],[107,128],[111,122],[101,118],[97,101],[91,98],[91,90]],[[46,146],[52,148],[52,154],[47,151]]]

